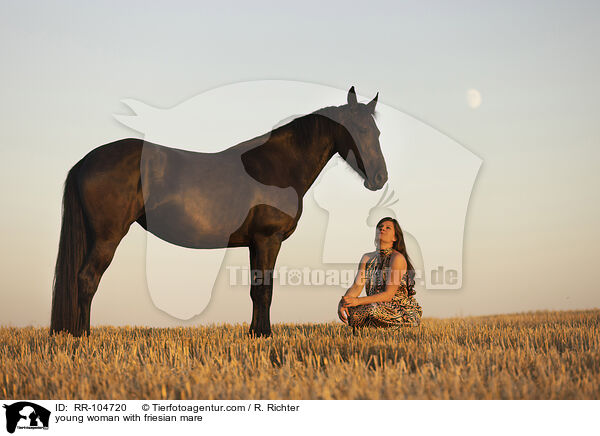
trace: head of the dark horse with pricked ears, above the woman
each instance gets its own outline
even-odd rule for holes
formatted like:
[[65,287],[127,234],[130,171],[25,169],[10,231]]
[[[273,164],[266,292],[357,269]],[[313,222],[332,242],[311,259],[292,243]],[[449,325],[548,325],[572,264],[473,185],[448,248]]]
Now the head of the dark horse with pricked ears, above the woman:
[[340,106],[338,122],[347,133],[337,141],[337,152],[365,180],[371,191],[387,182],[385,159],[379,145],[379,129],[373,115],[379,93],[368,104],[358,103],[354,86],[348,91],[348,104]]

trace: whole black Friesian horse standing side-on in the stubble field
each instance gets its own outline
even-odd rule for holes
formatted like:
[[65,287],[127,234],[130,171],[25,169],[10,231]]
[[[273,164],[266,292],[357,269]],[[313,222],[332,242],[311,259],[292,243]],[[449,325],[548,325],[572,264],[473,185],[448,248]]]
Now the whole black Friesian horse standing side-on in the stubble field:
[[69,171],[54,275],[52,333],[89,333],[102,274],[134,222],[189,248],[249,247],[250,334],[269,336],[272,277],[302,199],[335,153],[378,190],[387,182],[373,114],[377,95],[319,109],[218,153],[141,139],[102,145]]

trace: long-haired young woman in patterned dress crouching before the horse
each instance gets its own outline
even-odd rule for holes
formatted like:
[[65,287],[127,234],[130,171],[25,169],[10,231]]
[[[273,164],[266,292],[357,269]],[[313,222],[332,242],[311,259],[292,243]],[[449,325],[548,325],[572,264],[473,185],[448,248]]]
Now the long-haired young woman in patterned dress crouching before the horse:
[[[338,305],[338,316],[354,328],[418,326],[423,310],[414,297],[414,268],[398,221],[382,218],[375,244],[377,250],[361,258],[354,284]],[[359,297],[363,286],[367,296]]]

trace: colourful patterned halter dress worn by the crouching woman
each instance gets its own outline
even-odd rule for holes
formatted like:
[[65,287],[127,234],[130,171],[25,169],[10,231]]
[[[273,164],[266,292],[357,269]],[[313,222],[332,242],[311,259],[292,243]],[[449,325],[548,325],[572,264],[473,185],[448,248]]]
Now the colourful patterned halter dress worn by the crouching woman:
[[[367,295],[383,292],[389,273],[392,249],[379,250],[365,265]],[[407,271],[391,301],[348,308],[348,325],[356,327],[417,327],[423,310],[415,299],[415,281]]]

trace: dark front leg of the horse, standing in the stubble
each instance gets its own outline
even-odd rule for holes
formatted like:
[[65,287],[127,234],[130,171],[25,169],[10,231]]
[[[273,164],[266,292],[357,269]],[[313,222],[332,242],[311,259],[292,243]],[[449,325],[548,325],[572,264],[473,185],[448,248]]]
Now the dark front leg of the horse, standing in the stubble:
[[251,336],[271,336],[271,297],[273,268],[281,247],[281,235],[255,235],[250,244],[250,297],[252,298]]

